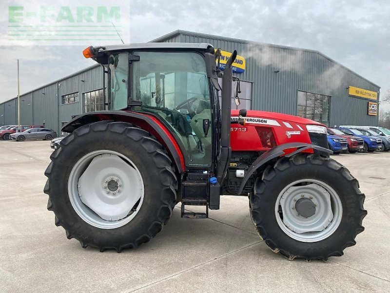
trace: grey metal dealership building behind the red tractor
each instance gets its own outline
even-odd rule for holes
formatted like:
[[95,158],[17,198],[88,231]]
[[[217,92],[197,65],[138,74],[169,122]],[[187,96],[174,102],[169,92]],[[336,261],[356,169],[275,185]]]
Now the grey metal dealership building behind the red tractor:
[[[242,106],[307,117],[329,126],[378,124],[380,87],[308,49],[177,30],[152,42],[208,42],[243,57]],[[102,109],[100,65],[43,85],[20,96],[22,125],[60,131],[72,115]],[[376,115],[375,115],[376,114]],[[0,125],[17,123],[16,98],[0,104]]]

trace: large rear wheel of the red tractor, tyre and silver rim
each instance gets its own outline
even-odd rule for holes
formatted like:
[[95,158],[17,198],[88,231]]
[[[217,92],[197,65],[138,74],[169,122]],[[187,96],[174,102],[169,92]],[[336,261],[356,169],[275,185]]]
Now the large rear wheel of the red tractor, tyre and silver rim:
[[172,161],[148,132],[98,122],[60,144],[46,169],[44,192],[68,239],[120,252],[150,241],[167,223],[177,179]]

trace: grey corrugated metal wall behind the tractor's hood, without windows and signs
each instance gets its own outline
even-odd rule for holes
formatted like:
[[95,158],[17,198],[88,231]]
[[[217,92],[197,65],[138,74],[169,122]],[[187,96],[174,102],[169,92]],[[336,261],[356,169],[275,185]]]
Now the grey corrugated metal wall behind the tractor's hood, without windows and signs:
[[224,51],[236,49],[246,59],[246,70],[235,75],[254,83],[253,109],[296,115],[297,91],[302,90],[331,96],[331,126],[378,124],[377,116],[367,115],[369,100],[350,97],[348,86],[375,92],[379,88],[318,52],[183,31],[155,41],[208,42]]

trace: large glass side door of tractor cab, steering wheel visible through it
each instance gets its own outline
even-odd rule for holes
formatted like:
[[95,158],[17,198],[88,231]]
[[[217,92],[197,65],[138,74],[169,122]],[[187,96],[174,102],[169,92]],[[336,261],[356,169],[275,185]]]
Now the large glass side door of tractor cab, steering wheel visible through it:
[[211,164],[212,120],[203,56],[195,52],[134,52],[135,110],[159,116],[186,149],[187,166]]

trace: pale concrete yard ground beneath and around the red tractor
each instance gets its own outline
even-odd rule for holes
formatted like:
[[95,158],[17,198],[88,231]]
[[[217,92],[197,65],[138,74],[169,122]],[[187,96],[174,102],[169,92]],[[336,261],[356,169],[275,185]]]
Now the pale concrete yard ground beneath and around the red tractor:
[[342,257],[288,261],[257,236],[246,197],[182,219],[137,250],[68,240],[46,209],[49,142],[0,141],[0,292],[389,292],[390,152],[333,156],[366,194],[366,230]]

